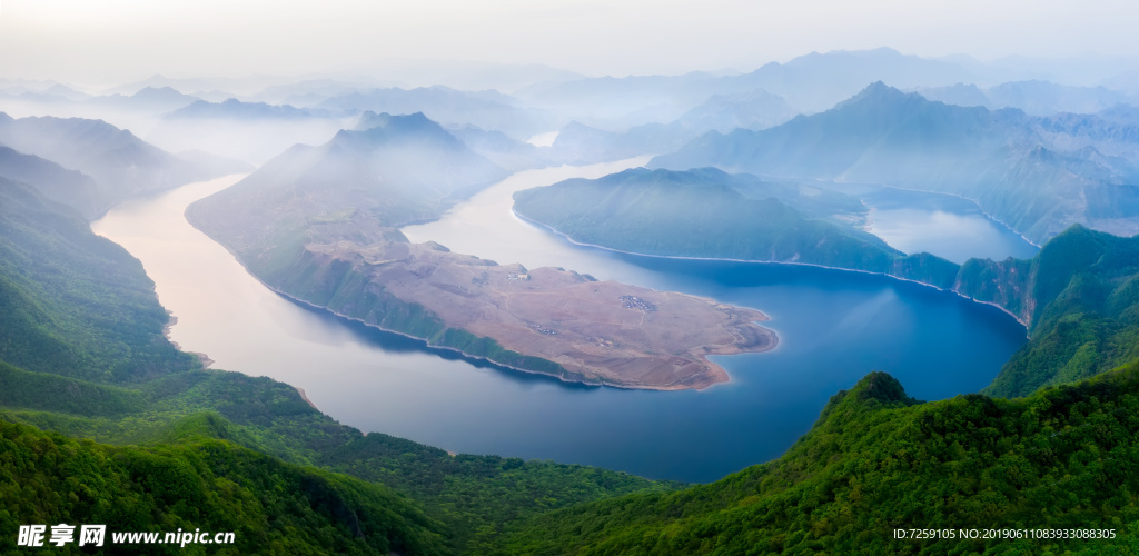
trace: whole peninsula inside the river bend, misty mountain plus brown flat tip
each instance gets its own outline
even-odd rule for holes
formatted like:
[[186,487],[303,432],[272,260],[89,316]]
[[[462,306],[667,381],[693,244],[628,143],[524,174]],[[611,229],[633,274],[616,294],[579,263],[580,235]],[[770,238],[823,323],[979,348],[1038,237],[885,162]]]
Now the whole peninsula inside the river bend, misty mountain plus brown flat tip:
[[776,346],[753,309],[410,243],[399,226],[505,172],[421,114],[366,122],[286,152],[187,218],[282,295],[563,381],[704,389],[728,381],[708,355]]

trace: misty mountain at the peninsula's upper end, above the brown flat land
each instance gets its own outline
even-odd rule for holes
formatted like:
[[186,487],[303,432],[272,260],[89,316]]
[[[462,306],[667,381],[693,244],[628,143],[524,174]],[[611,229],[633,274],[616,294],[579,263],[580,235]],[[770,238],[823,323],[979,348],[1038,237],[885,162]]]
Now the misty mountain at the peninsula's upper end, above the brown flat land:
[[358,128],[292,147],[187,218],[257,268],[272,259],[262,250],[311,234],[384,236],[506,177],[423,113],[366,114]]

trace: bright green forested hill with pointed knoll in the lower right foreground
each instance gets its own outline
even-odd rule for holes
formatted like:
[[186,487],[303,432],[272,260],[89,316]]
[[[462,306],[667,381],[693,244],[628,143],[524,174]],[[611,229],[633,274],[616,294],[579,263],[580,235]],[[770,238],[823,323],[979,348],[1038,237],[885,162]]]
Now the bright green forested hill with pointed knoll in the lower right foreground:
[[[1139,366],[1019,400],[906,396],[868,375],[781,458],[511,528],[507,554],[1133,554]],[[1113,529],[1114,540],[910,540],[896,529]]]

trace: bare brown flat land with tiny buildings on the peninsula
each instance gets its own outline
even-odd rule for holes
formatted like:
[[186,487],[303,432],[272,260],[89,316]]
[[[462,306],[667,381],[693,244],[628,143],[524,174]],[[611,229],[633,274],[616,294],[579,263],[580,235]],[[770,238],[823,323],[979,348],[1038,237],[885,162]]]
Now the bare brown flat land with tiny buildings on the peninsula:
[[596,281],[573,271],[499,265],[437,244],[310,244],[448,326],[562,365],[588,382],[650,390],[728,382],[712,354],[760,352],[776,334],[753,309],[675,292]]

